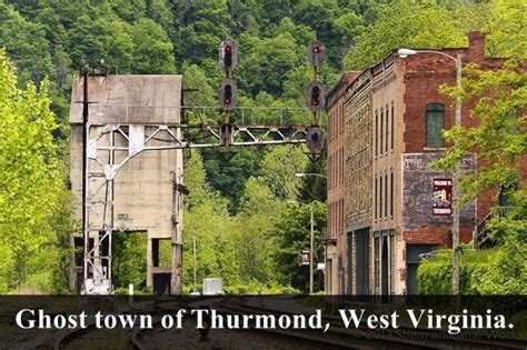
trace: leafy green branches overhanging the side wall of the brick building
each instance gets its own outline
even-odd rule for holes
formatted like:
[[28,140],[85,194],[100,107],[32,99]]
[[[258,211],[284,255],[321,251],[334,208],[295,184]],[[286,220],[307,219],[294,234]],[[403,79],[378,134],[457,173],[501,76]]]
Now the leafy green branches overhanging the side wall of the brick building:
[[464,101],[476,100],[471,118],[476,127],[454,127],[445,131],[453,142],[444,158],[435,163],[440,169],[454,169],[470,154],[478,154],[478,170],[464,174],[463,201],[489,189],[524,186],[520,166],[525,156],[527,77],[509,62],[499,70],[480,70],[477,66],[464,70],[463,90],[444,87],[443,91]]

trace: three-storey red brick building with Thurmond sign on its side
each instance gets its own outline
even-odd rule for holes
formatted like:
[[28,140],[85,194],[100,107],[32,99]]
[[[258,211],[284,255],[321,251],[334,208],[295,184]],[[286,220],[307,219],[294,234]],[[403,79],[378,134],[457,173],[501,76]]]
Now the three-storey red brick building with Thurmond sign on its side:
[[[500,66],[485,58],[483,33],[468,37],[468,48],[440,51],[461,53],[464,64]],[[419,254],[451,244],[451,209],[437,206],[448,200],[453,177],[428,163],[445,150],[441,129],[454,124],[454,101],[438,88],[455,82],[447,57],[391,52],[346,72],[329,91],[327,293],[415,293]],[[475,122],[473,106],[463,106],[463,124]],[[491,206],[487,196],[461,209],[463,242]]]

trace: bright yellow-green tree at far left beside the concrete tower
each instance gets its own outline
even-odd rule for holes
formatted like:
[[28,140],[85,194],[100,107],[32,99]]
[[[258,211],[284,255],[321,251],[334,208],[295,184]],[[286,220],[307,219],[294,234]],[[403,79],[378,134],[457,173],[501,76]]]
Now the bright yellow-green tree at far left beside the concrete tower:
[[[48,82],[17,88],[17,77],[0,50],[0,291],[20,286],[52,291],[61,259],[58,216],[63,188],[57,124],[50,111]],[[69,211],[68,211],[69,213]],[[66,227],[61,227],[66,229]],[[68,232],[71,230],[68,229]],[[30,258],[28,258],[30,257]]]

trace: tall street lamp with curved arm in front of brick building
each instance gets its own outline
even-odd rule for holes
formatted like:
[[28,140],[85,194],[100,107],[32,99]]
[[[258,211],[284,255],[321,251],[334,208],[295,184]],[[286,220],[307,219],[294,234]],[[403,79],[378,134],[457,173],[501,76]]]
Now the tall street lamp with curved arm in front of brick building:
[[[458,53],[456,57],[448,53],[435,50],[410,50],[400,49],[397,51],[400,58],[407,58],[408,56],[416,53],[437,53],[451,59],[456,63],[456,87],[458,91],[461,89],[461,54]],[[456,127],[461,126],[461,97],[459,93],[456,97],[456,114],[455,123]],[[458,181],[460,173],[460,160],[456,162],[453,179],[453,294],[459,294],[459,212],[460,208],[454,206],[454,200],[459,197],[460,191],[458,190]]]

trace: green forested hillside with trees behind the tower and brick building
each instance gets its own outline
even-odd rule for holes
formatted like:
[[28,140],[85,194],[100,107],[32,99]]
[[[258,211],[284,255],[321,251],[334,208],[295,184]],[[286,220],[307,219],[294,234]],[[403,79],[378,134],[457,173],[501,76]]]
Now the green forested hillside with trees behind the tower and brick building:
[[[488,54],[523,60],[526,28],[523,0],[0,0],[0,292],[66,291],[74,223],[69,197],[60,194],[68,184],[71,79],[82,63],[105,60],[121,74],[180,73],[185,88],[199,90],[185,104],[217,106],[225,76],[218,44],[232,38],[238,106],[304,107],[314,39],[327,47],[321,79],[329,89],[342,70],[364,69],[392,49],[465,46],[469,29],[488,32]],[[302,118],[295,120],[308,122]],[[27,158],[13,158],[22,151]],[[298,254],[309,244],[309,206],[320,242],[326,190],[320,178],[294,174],[325,167],[292,147],[247,148],[230,161],[192,151],[185,257],[196,236],[198,280],[221,276],[232,291],[305,290]],[[37,251],[46,256],[26,259]],[[188,290],[192,266],[183,266]],[[122,286],[131,274],[121,276]]]

